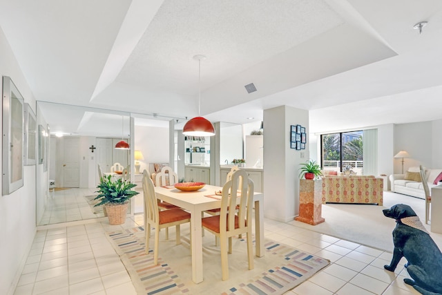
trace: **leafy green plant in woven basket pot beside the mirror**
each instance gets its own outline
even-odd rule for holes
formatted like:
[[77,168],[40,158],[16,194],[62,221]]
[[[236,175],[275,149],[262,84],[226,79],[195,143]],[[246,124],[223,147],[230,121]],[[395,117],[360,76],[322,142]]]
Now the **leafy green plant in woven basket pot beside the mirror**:
[[110,225],[122,225],[126,221],[127,205],[130,198],[138,194],[132,191],[137,184],[128,180],[112,180],[112,175],[102,178],[98,184],[94,200],[99,200],[94,207],[104,205]]

